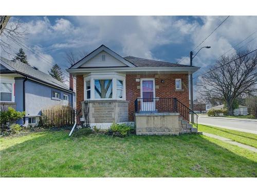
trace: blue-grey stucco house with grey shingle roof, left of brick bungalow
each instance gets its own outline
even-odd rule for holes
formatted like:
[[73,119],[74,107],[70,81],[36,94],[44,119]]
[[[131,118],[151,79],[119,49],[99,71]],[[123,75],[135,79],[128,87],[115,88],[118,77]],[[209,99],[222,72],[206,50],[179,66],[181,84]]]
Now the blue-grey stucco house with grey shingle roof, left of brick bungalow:
[[64,105],[75,108],[75,80],[70,76],[70,86],[20,61],[10,61],[3,57],[1,64],[1,110],[8,107],[25,111],[18,124],[35,125],[41,111],[51,106]]

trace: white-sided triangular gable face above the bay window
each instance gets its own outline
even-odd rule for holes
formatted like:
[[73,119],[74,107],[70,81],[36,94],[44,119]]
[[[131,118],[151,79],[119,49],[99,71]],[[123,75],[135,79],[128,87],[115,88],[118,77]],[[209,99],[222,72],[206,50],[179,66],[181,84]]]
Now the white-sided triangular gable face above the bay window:
[[[105,55],[105,61],[102,61],[102,55]],[[121,67],[127,66],[123,62],[117,60],[113,56],[109,55],[105,51],[101,51],[95,57],[91,58],[90,60],[86,61],[80,67]]]

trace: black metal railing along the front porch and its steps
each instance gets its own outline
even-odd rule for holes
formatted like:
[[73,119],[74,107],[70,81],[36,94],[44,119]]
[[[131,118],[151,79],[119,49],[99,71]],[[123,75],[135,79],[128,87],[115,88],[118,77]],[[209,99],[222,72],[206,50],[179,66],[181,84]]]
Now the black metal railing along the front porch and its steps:
[[[179,113],[183,118],[198,128],[198,115],[177,98],[137,98],[136,113]],[[191,114],[194,119],[191,121]]]

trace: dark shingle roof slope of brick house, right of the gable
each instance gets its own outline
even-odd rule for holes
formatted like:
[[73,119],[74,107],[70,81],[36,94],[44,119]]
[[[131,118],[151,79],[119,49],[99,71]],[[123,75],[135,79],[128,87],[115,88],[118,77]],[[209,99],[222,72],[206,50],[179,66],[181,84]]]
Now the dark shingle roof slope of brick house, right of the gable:
[[125,60],[133,63],[137,67],[190,67],[190,65],[175,64],[171,62],[163,62],[157,60],[149,60],[144,58],[137,58],[134,56],[124,57]]

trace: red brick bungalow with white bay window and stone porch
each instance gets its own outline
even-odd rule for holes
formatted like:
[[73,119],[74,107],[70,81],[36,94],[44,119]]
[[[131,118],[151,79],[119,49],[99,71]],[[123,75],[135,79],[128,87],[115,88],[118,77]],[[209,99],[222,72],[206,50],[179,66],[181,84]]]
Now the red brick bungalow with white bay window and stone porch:
[[136,125],[136,133],[179,134],[189,124],[188,76],[199,67],[121,57],[101,45],[67,71],[77,77],[78,124],[106,129]]

